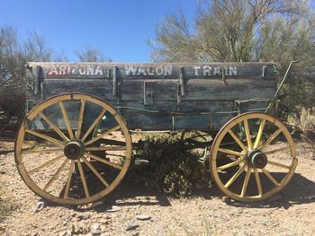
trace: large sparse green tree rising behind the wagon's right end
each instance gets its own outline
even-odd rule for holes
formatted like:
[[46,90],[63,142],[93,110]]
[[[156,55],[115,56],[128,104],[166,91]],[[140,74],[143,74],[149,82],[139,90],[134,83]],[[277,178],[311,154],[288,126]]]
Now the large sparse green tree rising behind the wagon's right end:
[[273,61],[284,75],[285,113],[315,104],[315,14],[305,0],[209,0],[198,4],[192,27],[183,10],[166,16],[149,42],[152,59],[167,62]]

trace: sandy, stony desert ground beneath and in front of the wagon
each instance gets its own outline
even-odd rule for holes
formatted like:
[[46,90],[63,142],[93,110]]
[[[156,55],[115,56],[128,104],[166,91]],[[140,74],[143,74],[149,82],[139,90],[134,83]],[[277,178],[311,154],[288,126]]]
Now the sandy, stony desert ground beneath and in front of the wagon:
[[[0,142],[0,150],[13,146]],[[298,144],[298,157],[292,181],[280,194],[260,203],[234,202],[215,186],[195,197],[177,199],[122,183],[97,205],[43,202],[42,208],[40,197],[20,178],[14,153],[2,154],[0,234],[314,235],[315,160],[306,144]]]

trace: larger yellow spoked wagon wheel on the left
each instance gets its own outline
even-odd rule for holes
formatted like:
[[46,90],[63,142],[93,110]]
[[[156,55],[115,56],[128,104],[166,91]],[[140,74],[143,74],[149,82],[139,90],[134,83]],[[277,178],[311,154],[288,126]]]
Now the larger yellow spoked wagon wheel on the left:
[[[33,148],[23,151],[29,142]],[[108,195],[128,170],[131,153],[129,129],[116,109],[82,93],[61,94],[31,109],[15,143],[26,185],[64,205]]]

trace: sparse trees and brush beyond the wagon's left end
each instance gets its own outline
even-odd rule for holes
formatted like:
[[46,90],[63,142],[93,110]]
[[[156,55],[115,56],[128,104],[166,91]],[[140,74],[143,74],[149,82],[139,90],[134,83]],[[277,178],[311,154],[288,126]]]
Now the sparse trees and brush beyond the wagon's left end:
[[29,39],[21,42],[14,27],[0,28],[0,132],[5,126],[16,128],[12,117],[23,118],[26,61],[49,61],[51,54],[38,33],[31,32]]

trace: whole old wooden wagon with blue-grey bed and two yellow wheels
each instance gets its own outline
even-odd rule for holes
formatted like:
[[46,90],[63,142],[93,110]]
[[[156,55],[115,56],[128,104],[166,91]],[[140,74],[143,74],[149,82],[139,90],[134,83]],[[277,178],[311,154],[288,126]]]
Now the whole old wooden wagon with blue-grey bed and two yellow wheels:
[[126,174],[133,131],[193,130],[221,191],[266,199],[297,165],[293,138],[275,118],[276,77],[273,63],[28,63],[17,168],[40,197],[88,204]]

